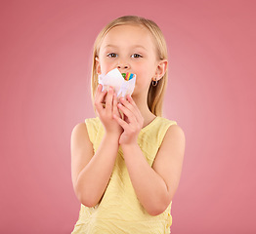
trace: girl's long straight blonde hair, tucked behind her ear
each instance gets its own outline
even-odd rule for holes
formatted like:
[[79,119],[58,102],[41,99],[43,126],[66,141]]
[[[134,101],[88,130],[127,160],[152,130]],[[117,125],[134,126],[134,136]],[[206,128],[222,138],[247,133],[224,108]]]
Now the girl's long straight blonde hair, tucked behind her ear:
[[[167,46],[165,39],[163,37],[163,34],[158,27],[158,25],[152,21],[147,20],[145,18],[137,17],[137,16],[124,16],[120,17],[116,20],[110,21],[99,33],[98,37],[95,40],[94,43],[94,49],[93,49],[93,64],[92,64],[92,74],[91,74],[91,95],[92,100],[94,103],[94,97],[98,86],[98,75],[96,71],[96,58],[99,58],[99,52],[100,48],[103,42],[103,39],[105,38],[107,32],[114,26],[117,25],[124,25],[124,24],[132,24],[132,25],[143,25],[146,28],[149,29],[151,35],[155,39],[155,45],[156,45],[156,52],[158,59],[168,59],[168,53],[167,53]],[[153,113],[156,116],[162,115],[162,104],[163,104],[163,97],[164,93],[167,87],[167,70],[163,77],[158,80],[158,83],[156,86],[152,86],[150,84],[149,86],[149,93],[148,93],[148,106],[151,113]],[[95,108],[95,106],[94,106]]]

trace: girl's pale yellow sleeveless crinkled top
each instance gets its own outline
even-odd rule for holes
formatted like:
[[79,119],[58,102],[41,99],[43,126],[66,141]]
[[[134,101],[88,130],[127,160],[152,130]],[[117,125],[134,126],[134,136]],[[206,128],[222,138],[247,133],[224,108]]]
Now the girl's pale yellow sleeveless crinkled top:
[[[104,137],[104,126],[99,117],[85,120],[90,140],[96,152]],[[150,167],[167,129],[176,121],[155,117],[138,137]],[[172,225],[172,202],[160,215],[149,215],[138,200],[130,180],[121,147],[118,149],[112,175],[105,194],[93,208],[81,204],[79,218],[71,234],[167,234]]]

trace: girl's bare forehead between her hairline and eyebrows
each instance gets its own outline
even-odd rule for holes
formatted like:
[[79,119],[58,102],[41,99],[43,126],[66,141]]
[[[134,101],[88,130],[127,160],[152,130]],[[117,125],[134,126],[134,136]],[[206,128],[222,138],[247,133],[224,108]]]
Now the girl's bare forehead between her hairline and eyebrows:
[[154,39],[145,26],[125,24],[114,26],[107,32],[102,47],[108,44],[116,46],[136,44],[151,48],[154,45]]

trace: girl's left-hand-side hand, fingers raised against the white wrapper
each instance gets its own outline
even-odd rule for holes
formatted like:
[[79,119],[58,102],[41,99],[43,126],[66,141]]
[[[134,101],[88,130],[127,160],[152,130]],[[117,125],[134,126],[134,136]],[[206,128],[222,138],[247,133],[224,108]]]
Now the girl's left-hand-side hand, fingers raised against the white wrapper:
[[[99,85],[95,95],[95,107],[98,112],[99,118],[102,121],[106,133],[120,137],[123,132],[122,128],[113,119],[113,114],[120,117],[120,113],[117,109],[117,98],[113,89],[109,87],[108,92],[105,90],[102,92],[103,86]],[[107,97],[106,97],[107,96]],[[104,99],[106,97],[106,106],[104,106]]]

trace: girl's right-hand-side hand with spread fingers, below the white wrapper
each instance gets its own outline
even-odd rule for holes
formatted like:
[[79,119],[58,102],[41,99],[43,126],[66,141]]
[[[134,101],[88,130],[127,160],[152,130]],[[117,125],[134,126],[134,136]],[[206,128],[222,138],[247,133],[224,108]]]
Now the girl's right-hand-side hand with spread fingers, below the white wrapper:
[[119,138],[119,144],[137,143],[139,133],[143,128],[144,118],[138,106],[131,96],[120,98],[117,107],[123,112],[124,119],[120,116],[113,115],[117,123],[122,127],[123,133]]

